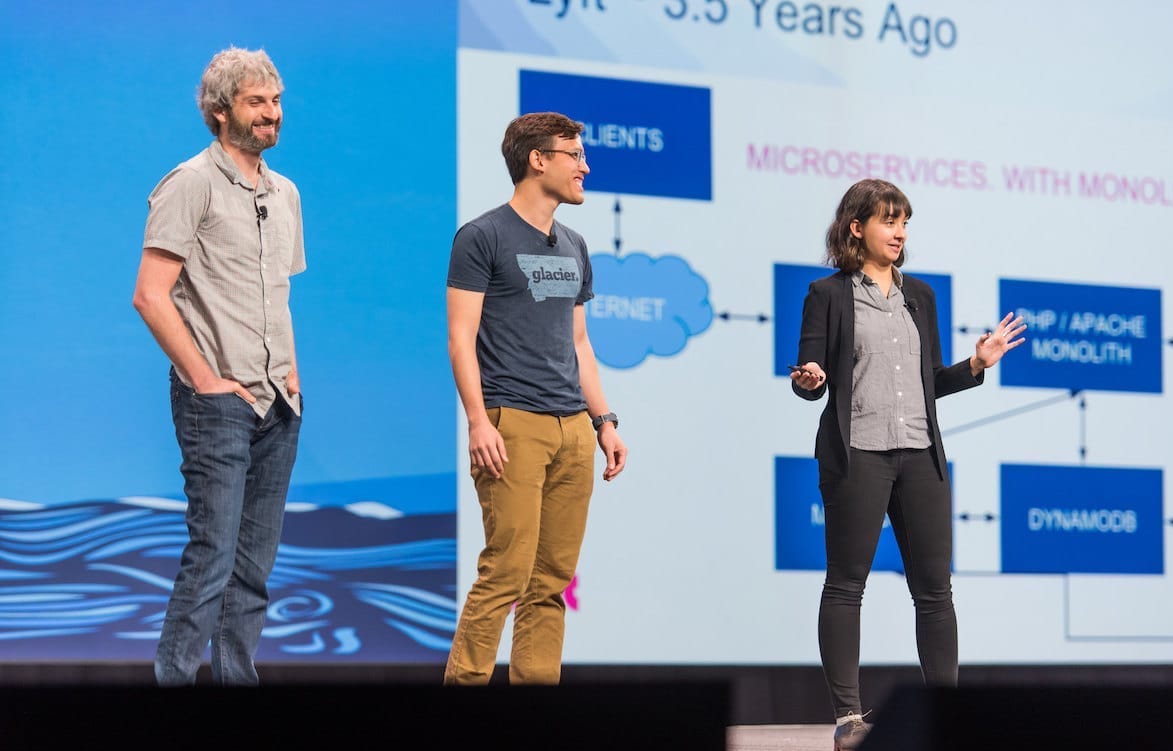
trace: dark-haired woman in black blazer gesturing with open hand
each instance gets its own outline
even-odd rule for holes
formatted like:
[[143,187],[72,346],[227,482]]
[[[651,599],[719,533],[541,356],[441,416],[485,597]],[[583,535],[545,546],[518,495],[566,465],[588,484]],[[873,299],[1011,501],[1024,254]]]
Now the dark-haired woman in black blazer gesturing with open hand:
[[828,265],[802,306],[794,392],[816,400],[815,458],[826,522],[827,577],[819,651],[835,710],[835,749],[867,735],[859,689],[860,603],[887,514],[916,608],[925,683],[957,683],[952,501],[936,400],[984,380],[985,368],[1023,341],[1006,314],[974,354],[941,363],[936,297],[901,273],[913,208],[896,185],[863,180],[840,201],[827,230]]

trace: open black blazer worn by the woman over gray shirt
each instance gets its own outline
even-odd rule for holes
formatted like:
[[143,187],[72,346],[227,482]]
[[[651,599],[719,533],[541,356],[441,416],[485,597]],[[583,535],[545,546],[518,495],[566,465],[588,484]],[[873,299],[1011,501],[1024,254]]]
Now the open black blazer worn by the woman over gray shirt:
[[[927,283],[903,275],[904,299],[910,304],[913,322],[921,336],[921,383],[924,384],[924,408],[929,415],[929,435],[937,462],[937,474],[945,479],[945,452],[937,427],[937,397],[972,388],[985,379],[985,371],[975,378],[969,358],[945,367],[941,364],[941,337],[937,333],[937,298]],[[819,418],[814,455],[819,476],[826,473],[846,475],[852,441],[852,368],[855,365],[855,297],[852,275],[847,271],[816,279],[802,303],[802,332],[799,336],[798,364],[818,363],[827,380],[814,391],[792,383],[794,393],[815,401],[830,390],[830,398]]]

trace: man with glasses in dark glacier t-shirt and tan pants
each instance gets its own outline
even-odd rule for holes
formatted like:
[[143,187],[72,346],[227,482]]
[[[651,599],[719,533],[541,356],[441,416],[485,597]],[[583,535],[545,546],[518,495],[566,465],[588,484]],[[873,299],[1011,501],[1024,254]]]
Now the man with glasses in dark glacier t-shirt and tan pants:
[[582,236],[554,219],[583,202],[583,124],[557,113],[509,123],[514,195],[460,228],[448,265],[448,354],[468,415],[484,548],[445,669],[446,684],[493,675],[514,603],[510,683],[558,683],[565,602],[594,488],[628,448],[606,405],[583,304],[594,297]]

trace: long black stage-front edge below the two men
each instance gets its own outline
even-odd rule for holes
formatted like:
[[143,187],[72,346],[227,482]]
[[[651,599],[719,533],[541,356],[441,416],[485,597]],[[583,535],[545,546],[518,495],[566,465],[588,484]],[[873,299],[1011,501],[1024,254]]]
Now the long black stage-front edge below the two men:
[[714,683],[0,688],[4,749],[725,751]]

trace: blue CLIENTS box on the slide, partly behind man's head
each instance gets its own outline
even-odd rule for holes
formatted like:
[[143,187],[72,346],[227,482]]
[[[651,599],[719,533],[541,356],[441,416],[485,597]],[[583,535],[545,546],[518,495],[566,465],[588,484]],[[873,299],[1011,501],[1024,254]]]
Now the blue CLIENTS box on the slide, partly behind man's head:
[[522,113],[582,121],[586,190],[666,198],[713,197],[707,88],[520,72]]

